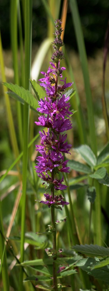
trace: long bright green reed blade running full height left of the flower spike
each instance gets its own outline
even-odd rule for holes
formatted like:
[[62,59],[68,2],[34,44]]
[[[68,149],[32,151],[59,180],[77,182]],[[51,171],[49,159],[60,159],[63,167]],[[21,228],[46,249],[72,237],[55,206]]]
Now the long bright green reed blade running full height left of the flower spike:
[[[30,88],[31,65],[31,24],[32,24],[32,0],[25,0],[25,89]],[[21,214],[21,262],[24,260],[24,238],[26,218],[26,183],[28,165],[28,131],[29,131],[29,106],[24,104],[23,119],[23,189],[22,189],[22,214]],[[23,290],[23,271],[20,270],[19,290]]]

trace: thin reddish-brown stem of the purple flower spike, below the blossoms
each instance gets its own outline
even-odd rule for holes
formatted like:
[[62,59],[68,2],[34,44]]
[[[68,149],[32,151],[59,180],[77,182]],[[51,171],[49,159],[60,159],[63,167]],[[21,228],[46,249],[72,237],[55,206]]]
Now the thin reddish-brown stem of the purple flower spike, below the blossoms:
[[[52,170],[52,179],[54,180],[54,170]],[[54,186],[51,188],[52,199],[54,199]],[[55,207],[51,207],[51,216],[52,216],[52,225],[54,228],[53,231],[53,249],[56,251],[56,224],[55,224]],[[57,290],[57,265],[56,265],[57,256],[53,258],[53,286],[54,290]]]

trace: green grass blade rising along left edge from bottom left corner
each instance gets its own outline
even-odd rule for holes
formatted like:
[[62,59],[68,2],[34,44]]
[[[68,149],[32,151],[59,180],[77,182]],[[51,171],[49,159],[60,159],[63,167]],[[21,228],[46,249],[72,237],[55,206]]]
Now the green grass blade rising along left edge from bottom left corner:
[[[4,250],[4,239],[3,239],[3,218],[2,218],[2,209],[1,209],[1,200],[0,200],[0,259],[2,261],[3,250]],[[1,267],[2,279],[3,279],[3,290],[9,291],[9,277],[8,277],[8,266],[6,258],[6,249],[4,250],[3,264]]]

